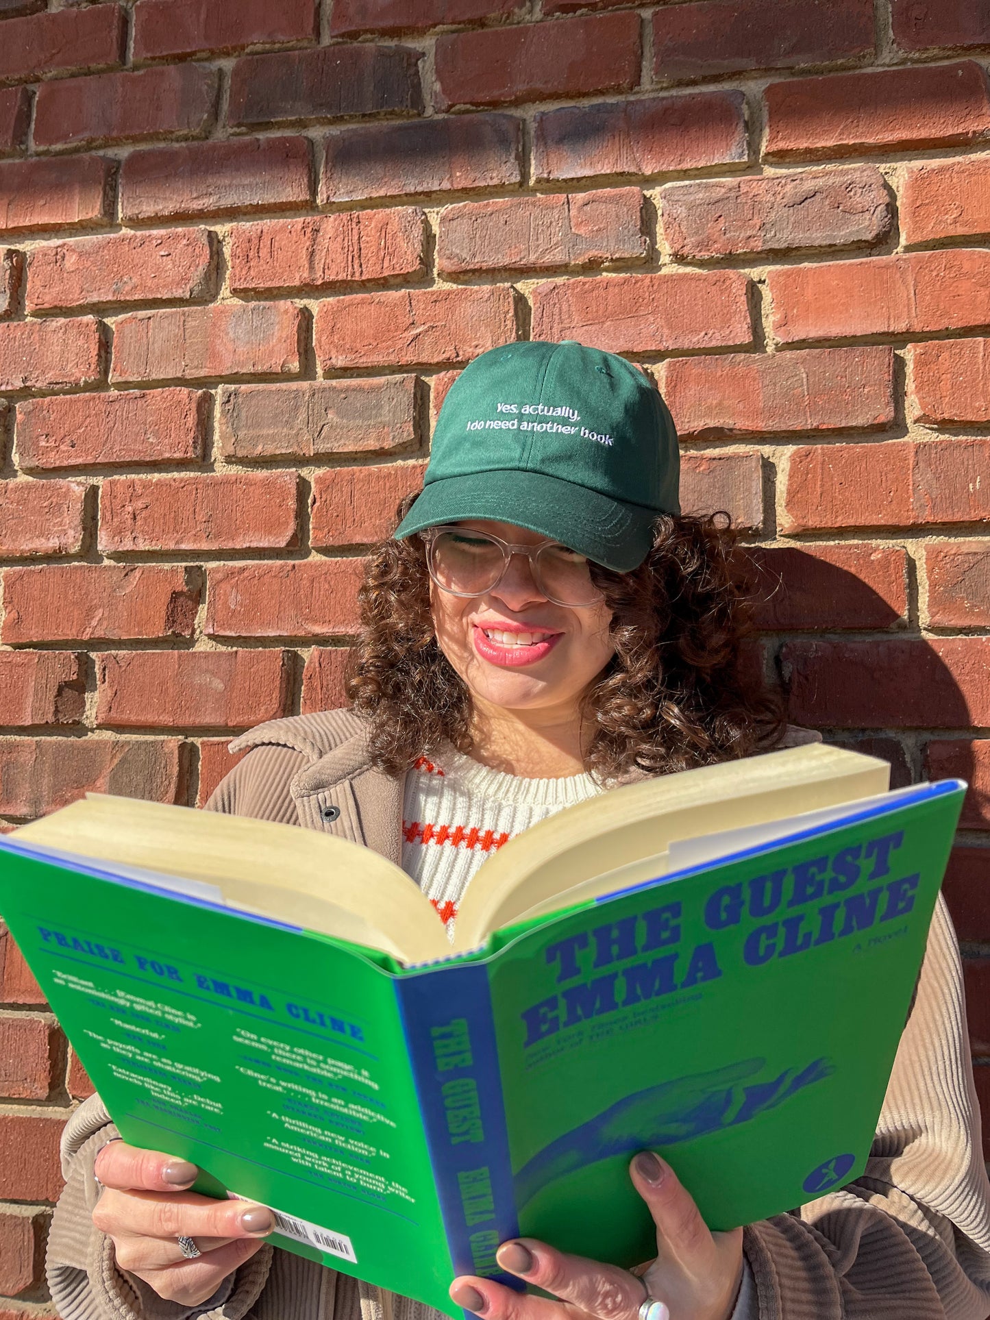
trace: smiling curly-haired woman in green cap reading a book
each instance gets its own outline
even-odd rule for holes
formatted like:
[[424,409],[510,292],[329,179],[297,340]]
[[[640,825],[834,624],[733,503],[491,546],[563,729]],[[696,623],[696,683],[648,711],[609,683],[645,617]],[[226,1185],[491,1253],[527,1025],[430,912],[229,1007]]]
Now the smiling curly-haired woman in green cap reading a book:
[[[422,494],[372,557],[351,711],[280,719],[214,810],[323,829],[401,862],[455,920],[486,849],[610,784],[800,741],[739,665],[727,535],[680,516],[673,425],[648,379],[577,343],[510,345],[461,375]],[[808,735],[805,735],[808,737]],[[826,997],[828,987],[822,987]],[[50,1246],[65,1320],[436,1316],[264,1245],[264,1206],[189,1192],[195,1168],[74,1115]],[[545,1243],[451,1298],[486,1320],[776,1320],[990,1312],[958,957],[939,909],[873,1158],[854,1184],[710,1233],[649,1151],[630,1168],[657,1228],[636,1274]],[[99,1180],[99,1181],[96,1181]]]

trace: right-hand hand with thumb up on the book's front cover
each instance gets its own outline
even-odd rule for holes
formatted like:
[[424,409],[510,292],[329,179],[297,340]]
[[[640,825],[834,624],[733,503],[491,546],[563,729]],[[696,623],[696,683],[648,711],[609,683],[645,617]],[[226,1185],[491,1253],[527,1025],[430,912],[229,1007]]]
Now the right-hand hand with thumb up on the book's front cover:
[[560,1302],[470,1275],[454,1279],[453,1300],[484,1320],[638,1320],[649,1296],[667,1308],[667,1316],[655,1311],[651,1320],[729,1320],[743,1274],[742,1229],[710,1233],[694,1201],[657,1155],[636,1155],[630,1172],[656,1224],[656,1261],[638,1270],[639,1278],[523,1238],[503,1242],[499,1265]]

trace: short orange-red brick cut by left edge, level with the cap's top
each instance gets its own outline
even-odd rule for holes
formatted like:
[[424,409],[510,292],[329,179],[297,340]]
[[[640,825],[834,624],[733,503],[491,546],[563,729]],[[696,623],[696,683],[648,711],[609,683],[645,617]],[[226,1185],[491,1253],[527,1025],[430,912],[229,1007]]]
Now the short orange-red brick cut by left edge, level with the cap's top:
[[73,389],[102,376],[99,322],[13,321],[0,325],[0,389]]

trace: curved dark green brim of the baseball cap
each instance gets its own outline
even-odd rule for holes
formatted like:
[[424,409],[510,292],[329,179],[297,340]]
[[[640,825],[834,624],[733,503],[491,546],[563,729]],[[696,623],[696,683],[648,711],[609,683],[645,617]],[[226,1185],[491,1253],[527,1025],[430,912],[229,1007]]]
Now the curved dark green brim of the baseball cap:
[[396,540],[442,523],[482,519],[548,536],[616,573],[639,568],[653,544],[656,510],[519,469],[446,477],[424,487]]

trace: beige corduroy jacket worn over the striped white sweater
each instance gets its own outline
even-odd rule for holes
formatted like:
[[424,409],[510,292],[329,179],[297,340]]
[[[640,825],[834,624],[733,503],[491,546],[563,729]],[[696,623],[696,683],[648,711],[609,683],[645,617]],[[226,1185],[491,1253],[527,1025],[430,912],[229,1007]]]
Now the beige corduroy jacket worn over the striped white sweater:
[[[799,730],[787,739],[801,741]],[[371,767],[362,723],[350,711],[261,725],[234,743],[247,748],[207,804],[211,810],[321,829],[399,862],[403,784]],[[828,1011],[828,986],[821,999]],[[271,1246],[203,1305],[162,1302],[117,1270],[112,1243],[92,1225],[94,1160],[114,1134],[98,1096],[65,1133],[67,1183],[48,1251],[49,1284],[65,1320],[440,1320],[418,1303]],[[866,1172],[838,1192],[750,1225],[744,1253],[747,1276],[733,1320],[990,1316],[990,1185],[958,949],[941,902]]]

